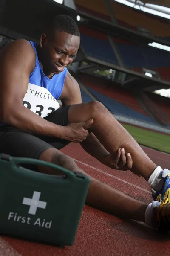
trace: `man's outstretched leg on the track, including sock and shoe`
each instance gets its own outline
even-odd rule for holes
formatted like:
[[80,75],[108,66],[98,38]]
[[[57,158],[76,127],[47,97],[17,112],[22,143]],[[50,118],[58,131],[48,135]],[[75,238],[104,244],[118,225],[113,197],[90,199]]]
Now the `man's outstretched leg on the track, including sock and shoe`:
[[[57,149],[49,148],[45,150],[39,159],[57,164],[73,172],[79,171],[87,175],[77,166],[71,157]],[[56,171],[44,167],[39,167],[39,170],[43,173],[58,174]],[[119,217],[145,222],[151,227],[161,227],[169,230],[170,219],[167,209],[169,209],[170,201],[167,201],[167,199],[162,203],[153,201],[147,205],[130,198],[119,190],[96,180],[90,175],[87,176],[91,180],[86,198],[87,205]]]

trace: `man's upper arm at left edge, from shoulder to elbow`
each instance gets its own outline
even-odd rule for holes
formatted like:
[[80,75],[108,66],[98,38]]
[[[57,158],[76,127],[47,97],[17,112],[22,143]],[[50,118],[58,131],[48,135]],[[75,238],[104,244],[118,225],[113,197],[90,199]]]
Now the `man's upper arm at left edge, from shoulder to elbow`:
[[[2,51],[0,58],[0,109],[12,105],[15,107],[22,103],[26,94],[29,74],[33,67],[31,63],[34,61],[33,52],[29,52],[31,48],[28,43],[22,40],[14,41]],[[28,58],[26,58],[27,56]]]

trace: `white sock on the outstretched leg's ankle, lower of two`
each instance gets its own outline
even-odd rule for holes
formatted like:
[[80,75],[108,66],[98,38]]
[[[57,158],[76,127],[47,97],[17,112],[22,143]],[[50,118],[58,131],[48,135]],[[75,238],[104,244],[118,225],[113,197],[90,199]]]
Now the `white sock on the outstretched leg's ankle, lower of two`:
[[[161,203],[157,201],[153,201],[151,204],[147,206],[146,212],[145,212],[145,223],[150,227],[158,227],[156,223],[156,214],[157,209]],[[154,209],[155,208],[155,211]]]

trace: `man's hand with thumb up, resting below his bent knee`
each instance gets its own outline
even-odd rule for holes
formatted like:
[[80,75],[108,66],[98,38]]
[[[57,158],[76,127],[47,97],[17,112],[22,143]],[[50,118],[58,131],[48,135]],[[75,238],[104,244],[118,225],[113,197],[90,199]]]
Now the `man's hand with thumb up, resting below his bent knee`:
[[74,143],[80,143],[88,136],[88,128],[90,128],[90,125],[92,125],[93,122],[94,120],[91,119],[85,122],[71,123],[64,126],[61,138]]

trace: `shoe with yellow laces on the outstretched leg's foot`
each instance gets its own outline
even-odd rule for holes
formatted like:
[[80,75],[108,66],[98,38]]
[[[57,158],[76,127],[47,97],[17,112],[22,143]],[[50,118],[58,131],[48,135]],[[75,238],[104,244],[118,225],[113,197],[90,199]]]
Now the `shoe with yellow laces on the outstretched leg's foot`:
[[170,201],[164,198],[159,205],[157,221],[161,230],[170,230]]

